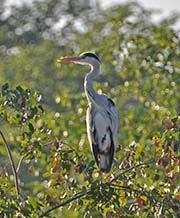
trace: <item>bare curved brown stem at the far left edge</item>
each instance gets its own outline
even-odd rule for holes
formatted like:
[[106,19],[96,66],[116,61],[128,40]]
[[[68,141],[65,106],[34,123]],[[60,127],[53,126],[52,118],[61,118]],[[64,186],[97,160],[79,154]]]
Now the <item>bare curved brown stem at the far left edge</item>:
[[18,176],[17,176],[14,160],[13,160],[13,157],[12,157],[12,154],[11,154],[10,146],[8,145],[8,143],[6,141],[6,138],[4,137],[4,134],[2,133],[1,130],[0,130],[0,135],[1,135],[2,139],[3,139],[3,142],[4,142],[5,146],[6,146],[6,150],[7,150],[8,156],[9,156],[9,161],[10,161],[12,172],[13,172],[13,175],[14,175],[14,183],[15,183],[15,188],[16,188],[17,199],[20,200],[20,189],[19,189],[19,183],[18,183]]

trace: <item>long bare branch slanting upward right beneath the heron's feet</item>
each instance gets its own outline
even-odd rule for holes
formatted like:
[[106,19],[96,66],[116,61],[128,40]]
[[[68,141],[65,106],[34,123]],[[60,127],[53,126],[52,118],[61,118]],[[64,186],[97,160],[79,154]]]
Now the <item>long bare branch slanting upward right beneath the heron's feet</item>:
[[[100,186],[103,186],[103,187],[107,187],[107,186],[110,186],[110,185],[113,185],[113,182],[117,179],[119,179],[121,176],[123,176],[124,174],[136,169],[136,168],[139,168],[141,166],[146,166],[146,165],[149,165],[149,164],[152,164],[154,163],[155,160],[149,160],[149,161],[146,161],[146,162],[142,162],[142,163],[139,163],[135,166],[132,166],[126,170],[124,170],[122,173],[119,173],[117,174],[110,182],[106,182],[104,184],[100,184],[96,187],[96,189],[99,189]],[[71,203],[72,201],[75,201],[76,199],[79,199],[79,198],[82,198],[83,196],[85,195],[88,195],[88,194],[91,194],[92,192],[94,191],[94,189],[91,189],[89,191],[81,191],[81,192],[78,192],[77,194],[75,194],[74,196],[72,196],[71,198],[69,198],[68,200],[64,201],[64,202],[61,202],[61,203],[57,203],[55,204],[54,206],[52,207],[49,207],[47,210],[45,210],[44,212],[42,212],[40,214],[40,218],[44,217],[45,215],[47,215],[48,213],[50,213],[51,211],[57,209],[57,208],[60,208],[60,207],[63,207],[69,203]]]

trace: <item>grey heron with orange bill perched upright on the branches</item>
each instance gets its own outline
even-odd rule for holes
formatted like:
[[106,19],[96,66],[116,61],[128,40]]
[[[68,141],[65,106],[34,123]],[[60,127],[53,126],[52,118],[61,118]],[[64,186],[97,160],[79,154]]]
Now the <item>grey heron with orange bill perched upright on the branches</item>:
[[93,52],[84,52],[77,57],[61,57],[59,62],[89,65],[91,70],[84,79],[88,100],[86,125],[89,143],[101,172],[110,171],[118,138],[118,116],[114,102],[105,94],[98,94],[92,85],[100,72],[100,60]]

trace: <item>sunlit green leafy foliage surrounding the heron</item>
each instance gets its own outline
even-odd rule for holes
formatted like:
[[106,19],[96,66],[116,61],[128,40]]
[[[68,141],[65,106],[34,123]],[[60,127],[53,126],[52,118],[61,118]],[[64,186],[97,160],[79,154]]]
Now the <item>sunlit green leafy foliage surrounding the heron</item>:
[[[34,1],[10,16],[0,8],[0,215],[178,217],[178,16],[154,24],[134,2],[106,10],[81,2]],[[56,64],[86,50],[102,61],[94,87],[119,114],[115,161],[102,182],[86,137],[88,68]]]

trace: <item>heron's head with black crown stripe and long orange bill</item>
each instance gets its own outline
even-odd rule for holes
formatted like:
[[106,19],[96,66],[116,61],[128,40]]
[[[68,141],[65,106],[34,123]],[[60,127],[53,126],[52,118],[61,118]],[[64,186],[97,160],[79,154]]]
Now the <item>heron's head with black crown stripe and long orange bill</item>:
[[77,64],[100,65],[98,56],[90,51],[84,52],[77,57],[61,57],[58,61],[60,63],[73,62]]

